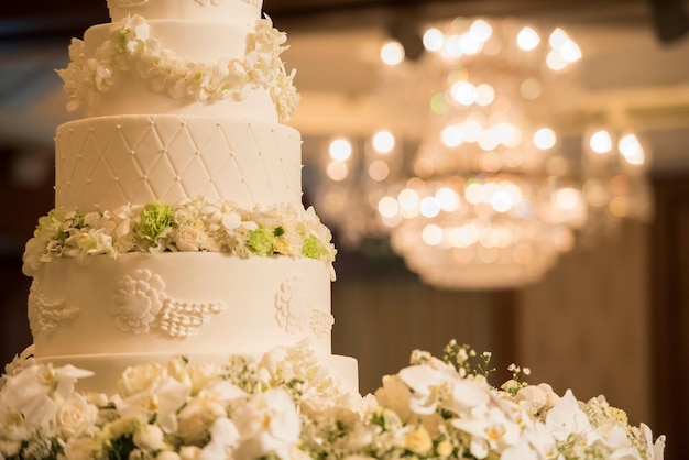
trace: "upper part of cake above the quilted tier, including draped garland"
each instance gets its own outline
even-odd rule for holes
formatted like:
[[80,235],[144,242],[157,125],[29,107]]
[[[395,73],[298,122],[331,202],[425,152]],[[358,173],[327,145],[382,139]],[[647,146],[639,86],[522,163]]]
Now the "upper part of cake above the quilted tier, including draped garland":
[[260,0],[109,0],[59,70],[85,117],[181,114],[286,122],[298,103],[286,35]]

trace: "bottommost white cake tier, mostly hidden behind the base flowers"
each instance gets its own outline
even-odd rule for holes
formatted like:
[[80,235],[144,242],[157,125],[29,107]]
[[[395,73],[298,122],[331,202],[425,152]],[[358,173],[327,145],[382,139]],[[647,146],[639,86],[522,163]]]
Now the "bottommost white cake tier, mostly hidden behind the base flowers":
[[[259,354],[251,354],[256,360]],[[76,388],[80,392],[97,392],[107,395],[117,394],[118,379],[130,366],[150,365],[157,363],[164,365],[173,355],[169,353],[138,353],[138,354],[86,354],[68,357],[51,357],[37,359],[39,363],[52,363],[54,366],[74,365],[79,369],[94,372],[94,375],[77,382]],[[190,363],[212,363],[223,365],[228,363],[229,354],[185,354]],[[317,355],[320,365],[328,369],[330,375],[339,383],[347,393],[359,393],[359,369],[354,358],[333,354]]]

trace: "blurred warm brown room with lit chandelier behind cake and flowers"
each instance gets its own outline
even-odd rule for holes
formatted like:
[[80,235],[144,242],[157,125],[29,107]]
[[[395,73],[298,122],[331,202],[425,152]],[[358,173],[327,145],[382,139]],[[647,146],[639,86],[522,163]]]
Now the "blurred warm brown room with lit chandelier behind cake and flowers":
[[[689,21],[675,0],[265,0],[302,101],[305,201],[339,249],[332,349],[362,393],[413,349],[604,394],[683,458]],[[67,46],[105,1],[0,10],[0,354],[53,207]]]

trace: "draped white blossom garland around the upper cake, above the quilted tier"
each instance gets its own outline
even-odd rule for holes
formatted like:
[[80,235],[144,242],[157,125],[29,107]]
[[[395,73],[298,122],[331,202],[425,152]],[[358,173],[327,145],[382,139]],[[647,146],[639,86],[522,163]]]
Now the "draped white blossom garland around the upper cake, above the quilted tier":
[[116,70],[135,69],[152,88],[174,98],[199,102],[243,100],[253,88],[269,90],[281,121],[288,121],[299,96],[293,85],[296,70],[287,75],[280,58],[287,48],[286,34],[273,28],[270,18],[255,22],[247,37],[243,59],[195,63],[166,50],[151,36],[151,26],[140,15],[128,15],[110,39],[86,58],[84,41],[73,39],[67,68],[57,70],[69,96],[68,111],[91,107],[99,92],[114,85]]

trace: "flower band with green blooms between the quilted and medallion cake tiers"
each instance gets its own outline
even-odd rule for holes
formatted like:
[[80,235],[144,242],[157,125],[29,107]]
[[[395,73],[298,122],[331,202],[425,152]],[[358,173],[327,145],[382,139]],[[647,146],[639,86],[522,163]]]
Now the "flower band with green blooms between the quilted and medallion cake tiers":
[[330,266],[337,250],[313,207],[282,204],[243,209],[199,197],[177,206],[150,202],[113,211],[51,210],[26,243],[23,271],[33,275],[53,258],[128,252],[226,252],[248,258],[308,258]]

